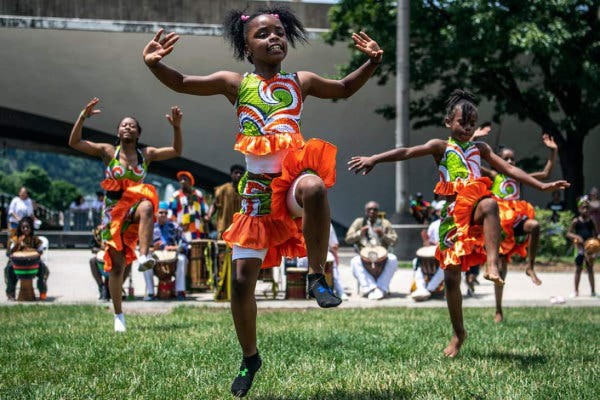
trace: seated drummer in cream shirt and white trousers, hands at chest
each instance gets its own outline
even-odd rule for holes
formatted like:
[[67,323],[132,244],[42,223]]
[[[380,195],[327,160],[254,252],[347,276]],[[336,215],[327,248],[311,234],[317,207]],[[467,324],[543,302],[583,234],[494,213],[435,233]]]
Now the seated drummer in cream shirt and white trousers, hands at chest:
[[390,221],[379,216],[379,204],[375,201],[368,202],[365,216],[350,225],[346,243],[354,245],[359,252],[350,266],[362,296],[381,300],[389,292],[398,259],[388,249],[396,243],[397,237]]

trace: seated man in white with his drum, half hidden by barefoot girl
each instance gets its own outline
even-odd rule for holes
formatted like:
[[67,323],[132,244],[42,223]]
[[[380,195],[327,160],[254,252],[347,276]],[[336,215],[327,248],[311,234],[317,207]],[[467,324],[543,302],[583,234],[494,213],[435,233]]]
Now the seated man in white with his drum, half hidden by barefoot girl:
[[443,293],[444,271],[435,259],[435,249],[440,241],[440,214],[445,204],[444,200],[436,203],[434,209],[436,219],[429,224],[424,247],[417,250],[417,257],[413,259],[415,272],[410,297],[414,301],[427,300],[432,293]]

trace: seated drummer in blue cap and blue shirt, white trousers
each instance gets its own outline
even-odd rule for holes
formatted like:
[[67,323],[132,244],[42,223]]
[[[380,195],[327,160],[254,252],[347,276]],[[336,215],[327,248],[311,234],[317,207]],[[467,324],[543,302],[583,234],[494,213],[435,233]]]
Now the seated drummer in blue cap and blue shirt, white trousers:
[[[188,242],[183,235],[183,231],[177,223],[168,218],[169,204],[161,201],[156,213],[156,223],[154,223],[154,234],[152,241],[154,250],[168,250],[177,252],[177,269],[175,270],[175,290],[177,291],[177,300],[185,300],[185,272],[187,269],[187,250]],[[154,296],[154,271],[144,272],[146,279],[146,293],[144,300],[151,301]]]

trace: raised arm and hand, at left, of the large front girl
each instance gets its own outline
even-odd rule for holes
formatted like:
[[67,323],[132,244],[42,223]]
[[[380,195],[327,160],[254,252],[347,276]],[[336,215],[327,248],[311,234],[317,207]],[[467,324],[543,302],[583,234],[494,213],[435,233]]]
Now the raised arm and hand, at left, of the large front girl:
[[184,75],[179,71],[167,66],[162,62],[163,58],[169,55],[175,48],[175,43],[179,36],[171,32],[161,37],[164,30],[161,29],[148,42],[142,56],[144,63],[168,88],[186,94],[197,96],[211,96],[222,94],[233,104],[235,103],[238,88],[242,81],[242,76],[236,72],[219,71],[206,76]]

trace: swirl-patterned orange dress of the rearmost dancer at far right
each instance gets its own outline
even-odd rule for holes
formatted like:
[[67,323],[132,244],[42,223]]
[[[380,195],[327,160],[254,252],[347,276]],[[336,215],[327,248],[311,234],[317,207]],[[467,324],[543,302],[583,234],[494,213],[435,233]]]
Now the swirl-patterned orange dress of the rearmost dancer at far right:
[[492,193],[498,202],[500,225],[502,227],[502,242],[500,254],[510,257],[513,254],[527,257],[529,235],[515,235],[515,228],[528,219],[535,218],[533,206],[521,199],[521,186],[515,179],[498,173],[494,177]]

